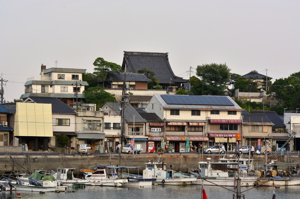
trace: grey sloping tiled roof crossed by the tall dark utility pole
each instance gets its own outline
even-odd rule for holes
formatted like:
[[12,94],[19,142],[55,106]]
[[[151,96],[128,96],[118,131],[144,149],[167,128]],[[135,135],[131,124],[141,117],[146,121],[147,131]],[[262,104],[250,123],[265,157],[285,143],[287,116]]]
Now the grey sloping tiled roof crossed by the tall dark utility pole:
[[[112,102],[107,102],[107,106],[109,106],[112,110],[119,110],[121,108],[121,103],[112,103]],[[145,120],[140,114],[130,105],[126,104],[125,105],[125,121],[126,122],[133,122],[133,115],[135,115],[134,121],[137,122],[142,122],[146,123],[147,120]]]

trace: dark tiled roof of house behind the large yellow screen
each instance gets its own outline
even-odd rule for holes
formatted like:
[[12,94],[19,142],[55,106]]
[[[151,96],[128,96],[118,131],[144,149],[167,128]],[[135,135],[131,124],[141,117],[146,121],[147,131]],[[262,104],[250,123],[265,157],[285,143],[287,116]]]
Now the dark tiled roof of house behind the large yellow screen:
[[30,97],[35,103],[52,104],[52,113],[76,114],[72,108],[55,97]]

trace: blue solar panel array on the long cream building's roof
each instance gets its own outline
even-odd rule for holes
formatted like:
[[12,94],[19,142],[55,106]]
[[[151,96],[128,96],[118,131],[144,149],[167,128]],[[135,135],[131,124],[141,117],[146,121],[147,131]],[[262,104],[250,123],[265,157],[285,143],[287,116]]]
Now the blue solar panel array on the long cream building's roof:
[[202,96],[202,95],[161,95],[167,104],[186,105],[225,105],[233,106],[226,96]]

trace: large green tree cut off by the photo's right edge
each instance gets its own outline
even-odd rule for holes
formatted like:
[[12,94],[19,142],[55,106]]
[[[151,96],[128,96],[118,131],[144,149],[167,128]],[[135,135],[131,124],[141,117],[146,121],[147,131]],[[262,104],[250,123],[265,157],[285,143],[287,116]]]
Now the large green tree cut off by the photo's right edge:
[[291,111],[300,107],[300,72],[293,73],[287,78],[276,79],[267,94],[278,100],[280,106]]

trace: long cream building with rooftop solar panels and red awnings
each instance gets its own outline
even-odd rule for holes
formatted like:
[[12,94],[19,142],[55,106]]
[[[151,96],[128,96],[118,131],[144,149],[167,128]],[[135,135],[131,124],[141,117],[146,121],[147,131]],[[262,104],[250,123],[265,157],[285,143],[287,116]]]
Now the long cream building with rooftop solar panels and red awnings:
[[[185,151],[187,138],[190,150],[223,144],[230,151],[241,132],[242,109],[228,96],[154,95],[145,111],[165,121],[165,137],[175,152]],[[161,137],[149,137],[155,139]]]

